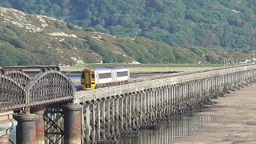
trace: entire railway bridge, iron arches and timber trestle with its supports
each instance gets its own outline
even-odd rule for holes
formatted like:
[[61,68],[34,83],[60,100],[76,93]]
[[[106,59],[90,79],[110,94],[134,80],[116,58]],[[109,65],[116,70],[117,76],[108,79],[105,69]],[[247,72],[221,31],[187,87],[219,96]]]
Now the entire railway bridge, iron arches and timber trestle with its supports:
[[[31,78],[26,70],[36,69]],[[17,143],[114,143],[120,134],[157,128],[174,114],[255,81],[256,65],[186,74],[164,74],[141,82],[75,91],[56,66],[0,69],[0,141],[16,127]]]

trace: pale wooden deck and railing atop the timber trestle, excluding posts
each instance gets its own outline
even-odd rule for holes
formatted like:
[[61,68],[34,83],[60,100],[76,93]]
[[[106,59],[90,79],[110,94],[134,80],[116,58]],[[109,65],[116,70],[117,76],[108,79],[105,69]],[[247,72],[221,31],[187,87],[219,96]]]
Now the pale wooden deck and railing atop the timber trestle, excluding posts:
[[116,95],[121,94],[134,94],[137,92],[150,90],[150,89],[157,89],[163,86],[170,86],[170,85],[177,85],[185,82],[193,82],[198,81],[205,78],[214,78],[222,75],[223,77],[226,74],[234,74],[245,70],[255,69],[255,65],[251,66],[238,66],[238,67],[229,67],[229,68],[222,68],[219,70],[209,70],[203,72],[194,72],[188,74],[175,74],[175,75],[166,75],[162,76],[159,79],[153,80],[142,80],[142,82],[135,82],[131,84],[126,84],[122,86],[109,86],[104,87],[96,90],[82,90],[76,91],[74,93],[74,102],[75,103],[82,103],[88,101],[94,101],[96,99],[101,98],[109,98]]

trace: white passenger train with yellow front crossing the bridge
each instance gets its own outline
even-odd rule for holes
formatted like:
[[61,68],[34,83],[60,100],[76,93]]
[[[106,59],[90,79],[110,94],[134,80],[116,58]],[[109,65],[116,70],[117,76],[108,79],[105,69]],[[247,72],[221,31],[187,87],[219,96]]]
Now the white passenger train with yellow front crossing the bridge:
[[86,68],[81,72],[82,90],[126,84],[130,71],[126,67]]

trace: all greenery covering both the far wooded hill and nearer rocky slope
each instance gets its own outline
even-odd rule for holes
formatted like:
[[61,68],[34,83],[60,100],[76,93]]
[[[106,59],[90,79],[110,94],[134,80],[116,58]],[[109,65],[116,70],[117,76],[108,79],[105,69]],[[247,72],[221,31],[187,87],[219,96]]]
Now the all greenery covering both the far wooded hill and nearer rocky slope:
[[[35,15],[26,15],[24,26],[15,25],[22,19],[17,11],[1,15],[0,66],[232,63],[252,58],[256,47],[254,0],[1,0],[0,6],[66,22],[46,20],[33,33],[26,26],[42,23]],[[50,37],[54,31],[78,38]]]

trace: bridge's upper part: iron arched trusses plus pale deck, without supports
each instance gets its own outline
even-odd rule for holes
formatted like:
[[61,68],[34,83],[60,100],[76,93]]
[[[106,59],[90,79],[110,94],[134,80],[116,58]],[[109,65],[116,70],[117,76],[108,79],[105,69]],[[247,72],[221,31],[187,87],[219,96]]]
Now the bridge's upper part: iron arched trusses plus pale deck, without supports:
[[[34,78],[23,73],[25,69],[40,69]],[[245,72],[256,69],[256,65],[236,66],[209,70],[182,75],[162,75],[155,79],[140,79],[139,82],[110,86],[97,90],[83,90],[74,92],[74,84],[54,66],[28,66],[28,67],[3,67],[0,69],[0,102],[4,110],[30,108],[31,106],[49,105],[53,102],[83,103],[101,98],[110,98],[122,94],[134,94],[146,90],[159,89],[165,86],[174,86],[199,80],[211,80],[219,76],[223,81],[230,81],[229,74]],[[227,79],[230,78],[230,79]]]

